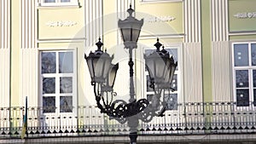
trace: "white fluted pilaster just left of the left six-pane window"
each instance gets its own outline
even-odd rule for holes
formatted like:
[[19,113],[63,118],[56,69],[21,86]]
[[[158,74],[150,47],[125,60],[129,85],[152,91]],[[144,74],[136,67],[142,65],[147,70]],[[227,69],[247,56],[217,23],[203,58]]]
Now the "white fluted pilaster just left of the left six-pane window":
[[23,0],[20,2],[20,103],[24,105],[28,96],[28,104],[38,106],[38,45],[36,2]]

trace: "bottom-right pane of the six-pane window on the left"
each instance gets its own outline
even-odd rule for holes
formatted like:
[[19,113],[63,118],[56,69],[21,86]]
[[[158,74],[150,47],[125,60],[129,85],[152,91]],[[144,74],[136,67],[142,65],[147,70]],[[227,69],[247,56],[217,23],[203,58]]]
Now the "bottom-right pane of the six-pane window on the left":
[[60,111],[61,112],[72,112],[73,102],[72,96],[61,96],[60,97]]

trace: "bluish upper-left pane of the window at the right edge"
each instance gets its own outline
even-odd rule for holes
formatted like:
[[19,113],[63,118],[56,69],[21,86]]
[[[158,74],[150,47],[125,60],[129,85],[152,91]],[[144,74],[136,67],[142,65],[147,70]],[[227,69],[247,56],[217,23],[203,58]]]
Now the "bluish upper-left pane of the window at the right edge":
[[248,44],[234,45],[235,66],[248,66]]

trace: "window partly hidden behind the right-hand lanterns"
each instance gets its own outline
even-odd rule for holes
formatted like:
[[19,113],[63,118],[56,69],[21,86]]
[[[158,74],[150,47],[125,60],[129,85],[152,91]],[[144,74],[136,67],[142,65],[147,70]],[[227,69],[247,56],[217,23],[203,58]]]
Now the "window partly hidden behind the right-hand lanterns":
[[[174,61],[178,61],[177,60],[177,48],[165,48],[170,55],[173,56],[174,58]],[[145,55],[150,55],[151,53],[153,52],[152,49],[145,49]],[[178,65],[179,66],[179,65]],[[145,77],[147,79],[147,98],[148,100],[151,99],[151,97],[154,95],[154,89],[152,89],[150,87],[150,82],[148,81],[149,80],[149,75],[148,75],[148,71],[147,69],[145,68]],[[178,82],[178,77],[180,75],[180,72],[179,72],[179,69],[178,67],[176,68],[176,71],[174,73],[174,76],[173,76],[173,80],[172,80],[172,85],[170,84],[170,88],[172,89],[172,91],[166,91],[166,93],[164,94],[164,97],[163,97],[163,100],[166,101],[166,110],[177,110],[177,97],[178,97],[178,86],[177,84],[179,83]]]

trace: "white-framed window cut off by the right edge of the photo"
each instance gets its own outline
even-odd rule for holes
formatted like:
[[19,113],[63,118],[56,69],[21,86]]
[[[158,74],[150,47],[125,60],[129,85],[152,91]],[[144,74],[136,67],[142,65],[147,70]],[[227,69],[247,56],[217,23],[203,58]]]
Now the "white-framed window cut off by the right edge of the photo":
[[233,43],[232,49],[236,106],[256,106],[256,43]]

